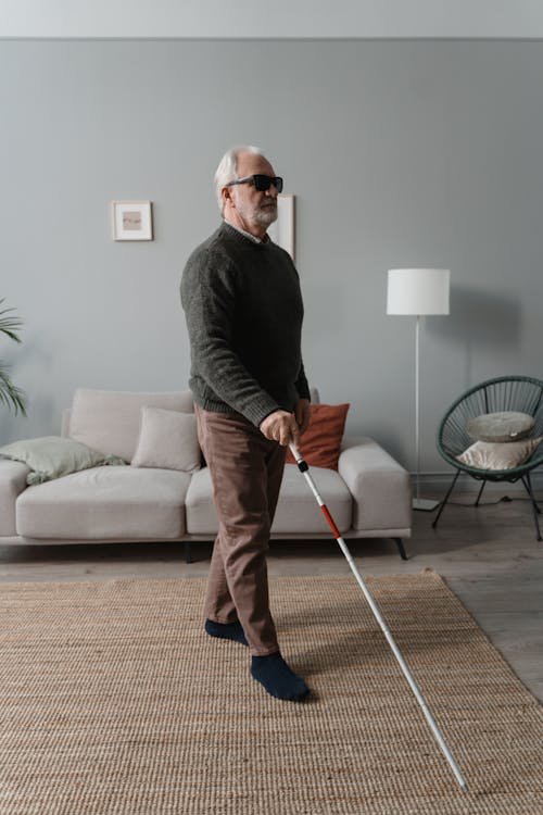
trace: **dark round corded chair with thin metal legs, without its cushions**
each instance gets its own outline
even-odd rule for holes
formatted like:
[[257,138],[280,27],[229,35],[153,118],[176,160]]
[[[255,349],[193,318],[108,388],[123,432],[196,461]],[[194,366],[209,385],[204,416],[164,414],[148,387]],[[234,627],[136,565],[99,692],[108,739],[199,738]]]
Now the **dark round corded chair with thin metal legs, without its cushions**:
[[456,469],[456,473],[441,502],[432,527],[435,528],[438,525],[458,476],[460,473],[467,473],[476,480],[482,481],[475,506],[479,506],[487,481],[515,484],[520,480],[531,500],[536,538],[542,540],[538,517],[541,511],[533,493],[530,473],[543,464],[543,442],[535,448],[526,462],[510,469],[480,469],[464,464],[457,459],[475,441],[467,432],[468,421],[484,413],[500,411],[529,413],[535,419],[530,438],[543,436],[543,381],[531,376],[502,376],[487,379],[467,390],[449,408],[438,428],[435,443],[442,457]]

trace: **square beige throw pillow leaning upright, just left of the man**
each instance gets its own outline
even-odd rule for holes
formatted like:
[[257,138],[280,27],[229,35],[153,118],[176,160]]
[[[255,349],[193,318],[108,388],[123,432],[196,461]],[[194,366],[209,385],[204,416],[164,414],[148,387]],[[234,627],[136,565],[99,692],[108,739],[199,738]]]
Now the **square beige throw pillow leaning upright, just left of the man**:
[[202,453],[193,413],[142,408],[138,447],[132,467],[161,467],[192,473],[200,469]]

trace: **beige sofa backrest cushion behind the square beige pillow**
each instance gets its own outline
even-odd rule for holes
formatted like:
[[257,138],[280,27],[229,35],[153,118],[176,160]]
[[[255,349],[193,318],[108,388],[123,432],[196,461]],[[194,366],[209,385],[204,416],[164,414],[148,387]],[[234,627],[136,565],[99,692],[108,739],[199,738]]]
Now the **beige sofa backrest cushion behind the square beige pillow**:
[[78,388],[72,404],[70,437],[102,453],[113,453],[131,462],[142,408],[163,408],[180,413],[194,410],[189,390],[138,393]]

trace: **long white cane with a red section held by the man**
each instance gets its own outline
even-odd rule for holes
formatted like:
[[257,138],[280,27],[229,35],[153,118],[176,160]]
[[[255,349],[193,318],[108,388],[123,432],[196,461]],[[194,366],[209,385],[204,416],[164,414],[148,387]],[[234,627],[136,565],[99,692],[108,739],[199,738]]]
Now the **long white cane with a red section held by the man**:
[[313,478],[310,475],[310,472],[308,472],[310,467],[308,467],[307,463],[303,460],[302,455],[298,452],[298,450],[296,450],[296,448],[295,448],[295,446],[294,446],[294,443],[292,441],[289,443],[289,447],[290,447],[290,450],[292,452],[292,455],[295,459],[295,462],[298,464],[298,468],[305,476],[305,480],[310,485],[311,490],[312,490],[313,494],[315,496],[315,499],[316,499],[318,505],[323,510],[323,514],[326,517],[326,519],[328,522],[328,525],[329,525],[330,529],[333,532],[333,537],[338,541],[341,551],[345,555],[346,561],[348,561],[349,565],[351,566],[351,570],[353,572],[353,574],[354,574],[354,576],[356,578],[356,581],[358,582],[358,586],[361,587],[362,591],[364,592],[364,597],[366,598],[366,600],[367,600],[367,602],[369,604],[369,607],[374,612],[375,618],[379,623],[379,626],[380,626],[382,632],[384,634],[384,636],[387,638],[387,641],[388,641],[389,645],[391,647],[392,652],[393,652],[394,656],[396,657],[397,663],[399,663],[400,667],[402,668],[402,672],[403,672],[405,678],[407,679],[407,682],[408,682],[412,691],[414,692],[417,702],[419,703],[420,707],[422,709],[422,713],[426,716],[426,720],[430,725],[432,734],[435,737],[435,740],[437,740],[438,744],[440,745],[443,755],[447,760],[449,765],[450,765],[451,769],[453,770],[453,773],[455,775],[455,778],[458,781],[460,788],[466,792],[467,791],[467,783],[464,780],[464,777],[463,777],[460,770],[458,769],[458,766],[457,766],[456,762],[454,761],[454,758],[453,758],[453,756],[451,754],[451,751],[449,750],[447,745],[445,744],[443,736],[441,735],[440,729],[439,729],[438,725],[435,724],[435,720],[434,720],[432,714],[428,710],[428,705],[426,704],[426,702],[425,702],[425,700],[422,698],[422,694],[420,693],[420,691],[419,691],[419,689],[417,687],[417,684],[415,682],[415,680],[414,680],[414,678],[413,678],[413,676],[412,676],[412,674],[409,672],[409,668],[405,664],[405,660],[402,656],[402,653],[401,653],[400,649],[397,648],[397,645],[396,645],[396,643],[394,641],[394,638],[392,637],[392,635],[390,632],[390,629],[389,629],[389,627],[388,627],[388,625],[387,625],[387,623],[386,623],[386,620],[384,620],[381,612],[379,611],[379,606],[375,602],[374,598],[371,597],[371,594],[369,592],[369,589],[367,588],[367,586],[364,582],[364,580],[363,580],[363,578],[362,578],[358,569],[356,568],[356,564],[353,561],[351,552],[349,551],[345,541],[341,537],[341,534],[340,534],[338,527],[336,526],[336,524],[333,522],[333,518],[332,518],[332,516],[330,515],[330,513],[328,511],[327,505],[325,504],[325,502],[323,501],[323,499],[318,494],[317,488],[315,487],[315,482],[314,482]]

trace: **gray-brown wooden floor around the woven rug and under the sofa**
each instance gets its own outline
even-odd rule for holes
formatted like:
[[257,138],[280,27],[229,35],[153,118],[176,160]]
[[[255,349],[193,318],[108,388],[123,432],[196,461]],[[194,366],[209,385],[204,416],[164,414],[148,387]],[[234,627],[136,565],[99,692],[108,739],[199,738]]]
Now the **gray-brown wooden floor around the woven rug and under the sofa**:
[[[460,493],[437,530],[432,513],[415,512],[414,534],[405,541],[407,562],[391,541],[349,541],[349,547],[363,575],[438,572],[543,701],[543,542],[535,540],[530,503],[522,493],[509,494],[514,500],[504,502],[503,491],[489,491],[473,507],[473,496]],[[0,547],[0,581],[206,575],[211,544],[193,544],[193,553],[195,561],[186,564],[178,544]],[[334,541],[273,542],[268,567],[275,576],[349,573]]]

